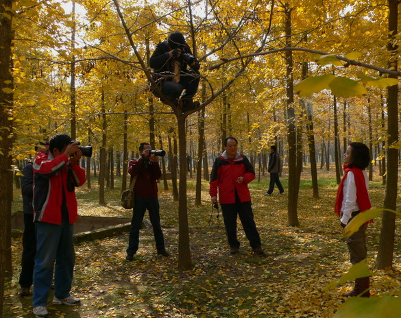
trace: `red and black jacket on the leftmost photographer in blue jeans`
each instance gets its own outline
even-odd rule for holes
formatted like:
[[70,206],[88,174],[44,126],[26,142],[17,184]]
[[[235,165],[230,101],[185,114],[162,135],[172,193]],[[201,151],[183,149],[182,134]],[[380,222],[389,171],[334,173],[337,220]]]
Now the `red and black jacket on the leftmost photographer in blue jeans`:
[[[38,152],[34,160],[34,220],[46,223],[62,223],[62,198],[69,210],[69,223],[77,221],[77,199],[75,191],[67,190],[69,157],[60,154],[42,154]],[[71,166],[72,178],[77,186],[86,182],[85,170],[79,164]]]

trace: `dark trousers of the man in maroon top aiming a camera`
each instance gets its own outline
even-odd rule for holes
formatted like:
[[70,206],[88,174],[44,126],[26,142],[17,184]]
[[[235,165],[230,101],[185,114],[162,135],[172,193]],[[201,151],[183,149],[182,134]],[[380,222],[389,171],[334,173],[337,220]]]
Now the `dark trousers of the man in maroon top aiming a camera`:
[[149,219],[151,226],[153,227],[156,249],[158,251],[165,250],[165,238],[163,237],[162,228],[160,227],[158,198],[152,197],[151,199],[144,199],[143,197],[135,197],[135,207],[132,215],[127,255],[134,255],[138,250],[139,230],[141,230],[142,221],[146,210],[149,211]]

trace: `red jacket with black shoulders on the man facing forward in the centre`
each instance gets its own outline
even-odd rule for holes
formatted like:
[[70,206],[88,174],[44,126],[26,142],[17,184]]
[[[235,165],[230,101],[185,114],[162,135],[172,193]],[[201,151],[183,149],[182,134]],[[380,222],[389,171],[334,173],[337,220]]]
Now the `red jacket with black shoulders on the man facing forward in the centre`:
[[[243,177],[239,184],[236,180]],[[248,184],[255,178],[254,167],[246,156],[237,153],[234,160],[229,160],[226,151],[215,159],[212,174],[210,175],[209,193],[215,197],[219,192],[221,204],[234,204],[235,193],[241,202],[251,201]]]

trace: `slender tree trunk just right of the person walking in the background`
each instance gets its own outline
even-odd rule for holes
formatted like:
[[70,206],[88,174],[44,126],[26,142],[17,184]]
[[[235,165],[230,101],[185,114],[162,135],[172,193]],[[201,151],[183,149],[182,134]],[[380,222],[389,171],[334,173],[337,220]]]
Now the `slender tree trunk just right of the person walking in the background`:
[[[286,46],[291,47],[291,8],[289,3],[284,5],[285,14],[285,34]],[[288,224],[290,226],[299,226],[297,215],[299,183],[297,180],[297,132],[295,127],[295,109],[293,92],[293,56],[291,51],[285,51],[286,77],[285,86],[287,92],[287,121],[288,121]]]

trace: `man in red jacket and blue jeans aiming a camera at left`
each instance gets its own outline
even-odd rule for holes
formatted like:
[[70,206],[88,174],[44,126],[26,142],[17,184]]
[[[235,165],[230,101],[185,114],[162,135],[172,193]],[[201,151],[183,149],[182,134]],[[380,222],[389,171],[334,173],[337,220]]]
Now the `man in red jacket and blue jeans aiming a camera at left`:
[[47,317],[47,297],[54,274],[53,304],[74,306],[70,294],[75,264],[73,223],[77,221],[75,186],[86,182],[79,161],[82,152],[70,136],[57,134],[49,141],[49,154],[34,160],[34,221],[36,256],[33,306],[36,317]]

